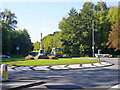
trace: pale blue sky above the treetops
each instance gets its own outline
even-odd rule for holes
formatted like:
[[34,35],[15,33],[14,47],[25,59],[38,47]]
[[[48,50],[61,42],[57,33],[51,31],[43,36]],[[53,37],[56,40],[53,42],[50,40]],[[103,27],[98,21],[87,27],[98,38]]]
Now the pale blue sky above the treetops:
[[[40,41],[41,33],[44,36],[48,34],[53,34],[55,31],[60,31],[59,23],[62,21],[63,17],[67,17],[71,8],[75,8],[78,12],[83,7],[85,1],[78,0],[65,0],[56,2],[54,0],[4,0],[0,2],[0,8],[4,10],[5,8],[15,13],[17,17],[17,30],[27,29],[31,41],[34,43]],[[91,0],[94,4],[94,0]],[[100,0],[97,0],[100,1]],[[104,0],[103,0],[104,1]],[[118,1],[106,0],[107,6],[118,6]]]

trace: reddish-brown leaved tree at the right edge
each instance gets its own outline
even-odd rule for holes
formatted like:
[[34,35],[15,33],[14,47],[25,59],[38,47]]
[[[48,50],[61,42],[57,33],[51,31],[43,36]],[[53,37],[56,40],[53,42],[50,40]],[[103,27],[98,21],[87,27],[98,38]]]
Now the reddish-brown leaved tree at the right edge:
[[120,50],[120,19],[116,21],[113,26],[111,26],[112,31],[110,31],[108,42],[108,48],[115,48],[114,51]]

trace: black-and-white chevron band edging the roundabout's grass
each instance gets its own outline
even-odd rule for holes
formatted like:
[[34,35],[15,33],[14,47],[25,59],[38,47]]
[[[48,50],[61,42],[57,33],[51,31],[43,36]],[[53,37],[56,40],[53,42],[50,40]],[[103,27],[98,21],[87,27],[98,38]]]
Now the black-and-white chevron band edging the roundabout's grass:
[[17,70],[17,71],[27,71],[27,70],[75,70],[75,69],[87,69],[87,68],[100,68],[100,67],[108,67],[114,64],[109,62],[97,62],[97,63],[89,63],[89,64],[71,64],[71,65],[52,65],[52,66],[8,66],[8,70]]

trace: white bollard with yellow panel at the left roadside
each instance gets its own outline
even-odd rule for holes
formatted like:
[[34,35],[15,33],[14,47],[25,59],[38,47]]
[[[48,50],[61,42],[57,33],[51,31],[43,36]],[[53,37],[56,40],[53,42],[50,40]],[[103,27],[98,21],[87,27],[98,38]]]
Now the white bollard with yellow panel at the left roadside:
[[1,80],[2,81],[8,81],[8,69],[7,64],[1,65]]

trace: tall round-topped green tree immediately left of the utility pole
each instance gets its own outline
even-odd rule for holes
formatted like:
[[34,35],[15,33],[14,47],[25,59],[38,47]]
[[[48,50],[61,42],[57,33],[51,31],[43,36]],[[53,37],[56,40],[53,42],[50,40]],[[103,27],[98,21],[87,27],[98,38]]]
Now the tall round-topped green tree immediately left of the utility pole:
[[[92,2],[85,2],[83,9],[81,10],[82,23],[80,24],[82,40],[81,44],[83,47],[87,46],[85,54],[92,56],[92,26],[94,18],[94,4]],[[80,53],[83,52],[80,45]],[[85,49],[85,48],[84,48]],[[82,54],[83,55],[83,54]]]

